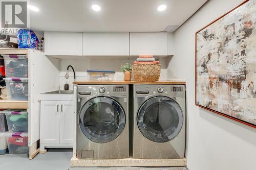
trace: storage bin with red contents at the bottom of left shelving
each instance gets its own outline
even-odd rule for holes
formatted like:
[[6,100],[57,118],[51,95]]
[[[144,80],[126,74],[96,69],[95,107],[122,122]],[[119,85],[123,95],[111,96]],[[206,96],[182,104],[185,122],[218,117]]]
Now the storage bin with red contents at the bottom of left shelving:
[[9,154],[28,154],[28,133],[8,133],[6,135]]

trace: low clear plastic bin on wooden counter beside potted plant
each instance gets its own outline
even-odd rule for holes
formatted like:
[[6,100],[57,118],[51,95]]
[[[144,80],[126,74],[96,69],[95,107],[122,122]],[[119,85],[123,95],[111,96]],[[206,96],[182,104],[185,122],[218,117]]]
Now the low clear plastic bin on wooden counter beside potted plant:
[[87,70],[87,77],[89,81],[113,81],[114,75],[114,70]]

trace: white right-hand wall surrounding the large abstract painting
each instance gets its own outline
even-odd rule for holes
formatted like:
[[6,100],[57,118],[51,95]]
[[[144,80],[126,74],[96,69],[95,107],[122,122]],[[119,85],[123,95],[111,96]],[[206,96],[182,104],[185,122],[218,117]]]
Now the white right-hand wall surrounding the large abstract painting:
[[210,0],[174,34],[167,78],[185,79],[189,170],[255,170],[256,129],[195,106],[195,33],[242,0]]

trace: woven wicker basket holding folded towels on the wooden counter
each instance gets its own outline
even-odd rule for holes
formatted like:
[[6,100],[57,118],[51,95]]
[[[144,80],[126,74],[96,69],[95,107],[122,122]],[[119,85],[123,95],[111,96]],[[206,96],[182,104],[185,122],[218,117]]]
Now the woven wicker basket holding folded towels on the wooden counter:
[[160,77],[160,64],[134,64],[133,79],[141,82],[155,82]]

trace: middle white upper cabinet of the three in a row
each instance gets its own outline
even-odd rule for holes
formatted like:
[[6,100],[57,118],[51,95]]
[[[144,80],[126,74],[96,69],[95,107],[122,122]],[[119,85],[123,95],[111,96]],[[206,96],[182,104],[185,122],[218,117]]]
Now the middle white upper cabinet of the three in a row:
[[129,33],[83,33],[84,56],[129,56]]

